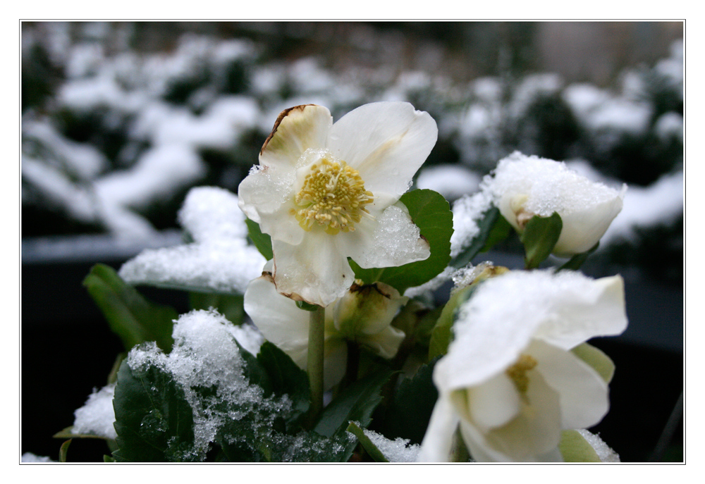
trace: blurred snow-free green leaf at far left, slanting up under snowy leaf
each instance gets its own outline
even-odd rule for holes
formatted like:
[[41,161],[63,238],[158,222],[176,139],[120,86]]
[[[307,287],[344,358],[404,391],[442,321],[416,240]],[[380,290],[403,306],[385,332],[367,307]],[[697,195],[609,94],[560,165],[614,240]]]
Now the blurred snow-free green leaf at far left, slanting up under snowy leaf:
[[83,280],[111,330],[129,351],[142,342],[154,341],[165,352],[171,350],[173,320],[178,313],[170,306],[147,301],[123,281],[113,268],[96,264]]

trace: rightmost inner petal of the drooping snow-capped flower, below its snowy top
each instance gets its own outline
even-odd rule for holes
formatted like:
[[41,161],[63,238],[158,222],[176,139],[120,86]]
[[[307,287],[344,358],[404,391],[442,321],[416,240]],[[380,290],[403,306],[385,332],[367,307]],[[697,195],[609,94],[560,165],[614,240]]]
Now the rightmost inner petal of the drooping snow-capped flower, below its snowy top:
[[536,371],[558,392],[562,427],[587,428],[609,410],[607,383],[596,371],[565,349],[534,341],[528,349],[539,364]]

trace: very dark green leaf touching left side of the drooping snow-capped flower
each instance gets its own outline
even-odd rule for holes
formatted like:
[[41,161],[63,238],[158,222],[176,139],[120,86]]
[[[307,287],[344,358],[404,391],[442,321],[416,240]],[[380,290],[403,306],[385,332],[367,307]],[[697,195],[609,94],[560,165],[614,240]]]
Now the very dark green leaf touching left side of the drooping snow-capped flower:
[[387,438],[398,437],[420,444],[431,420],[439,392],[433,382],[438,358],[421,366],[413,378],[403,378],[384,414],[382,432]]

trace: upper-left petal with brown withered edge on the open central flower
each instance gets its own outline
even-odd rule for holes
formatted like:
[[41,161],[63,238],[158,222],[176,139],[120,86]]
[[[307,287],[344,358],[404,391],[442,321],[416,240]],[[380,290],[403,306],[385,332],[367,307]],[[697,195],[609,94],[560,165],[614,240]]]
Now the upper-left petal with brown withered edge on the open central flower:
[[259,164],[293,168],[309,148],[323,148],[333,125],[328,108],[306,104],[281,112],[259,153]]

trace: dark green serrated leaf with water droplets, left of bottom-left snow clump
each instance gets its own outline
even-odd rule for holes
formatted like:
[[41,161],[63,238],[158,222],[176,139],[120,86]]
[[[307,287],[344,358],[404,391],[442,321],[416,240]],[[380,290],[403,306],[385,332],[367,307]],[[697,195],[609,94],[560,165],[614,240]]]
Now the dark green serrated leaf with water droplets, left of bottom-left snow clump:
[[117,461],[195,461],[193,411],[181,387],[156,365],[123,361],[113,399]]

